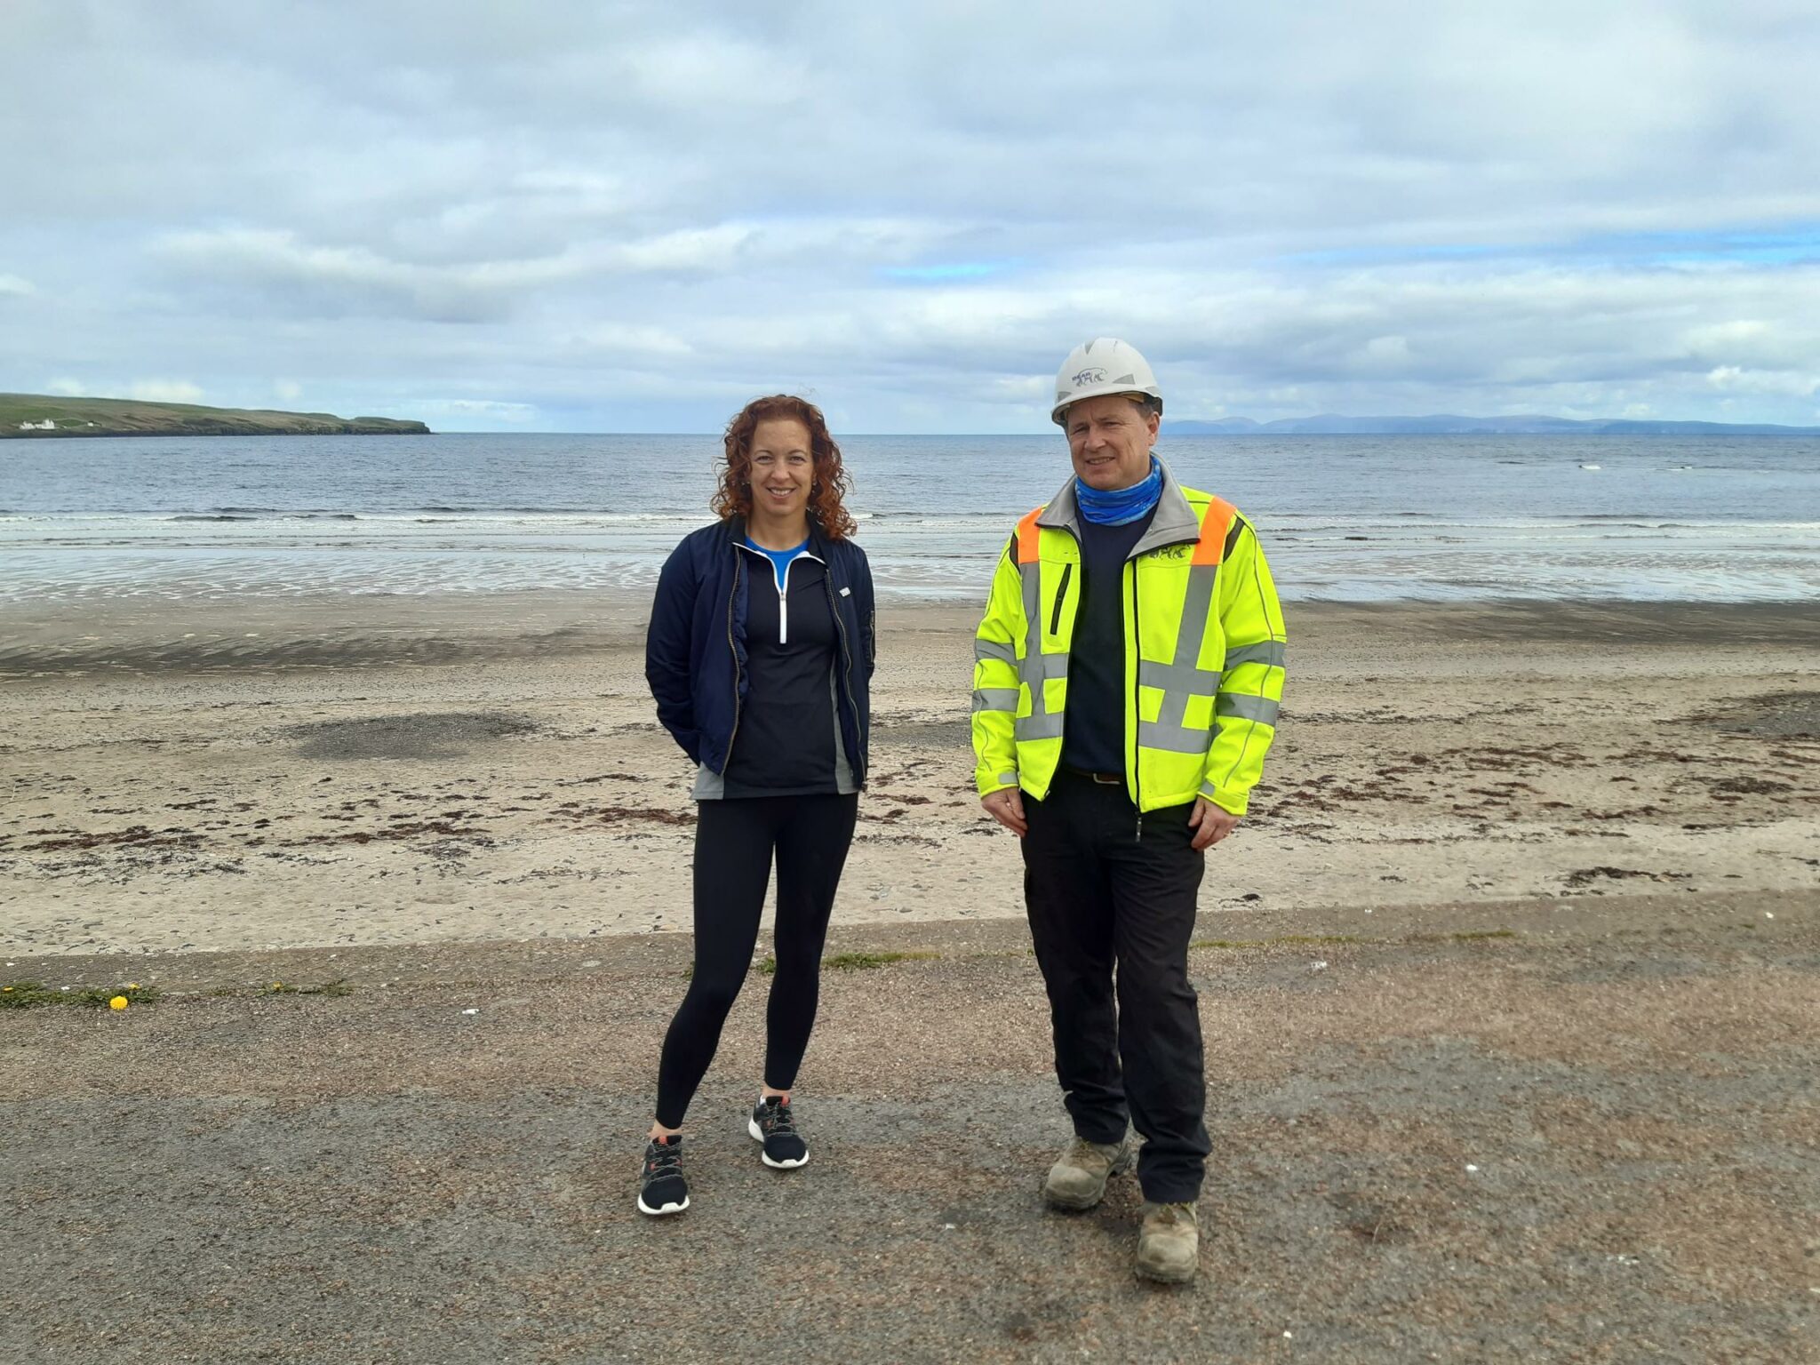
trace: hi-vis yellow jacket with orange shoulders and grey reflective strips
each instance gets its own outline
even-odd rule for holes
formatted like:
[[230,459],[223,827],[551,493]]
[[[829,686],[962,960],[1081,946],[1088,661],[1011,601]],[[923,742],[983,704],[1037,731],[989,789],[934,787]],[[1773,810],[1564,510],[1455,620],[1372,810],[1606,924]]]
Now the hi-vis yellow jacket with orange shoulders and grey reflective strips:
[[[979,795],[1036,799],[1061,763],[1068,644],[1081,602],[1081,522],[1070,479],[1021,522],[992,575],[974,639]],[[1283,701],[1283,608],[1258,535],[1230,502],[1163,495],[1125,561],[1125,784],[1138,810],[1205,795],[1243,815]]]

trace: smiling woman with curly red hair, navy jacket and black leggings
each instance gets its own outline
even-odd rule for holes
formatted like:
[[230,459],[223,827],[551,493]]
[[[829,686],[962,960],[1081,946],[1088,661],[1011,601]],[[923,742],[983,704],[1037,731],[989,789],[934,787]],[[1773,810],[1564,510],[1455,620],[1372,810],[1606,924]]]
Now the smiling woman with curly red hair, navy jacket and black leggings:
[[759,937],[777,863],[777,972],[746,1132],[768,1167],[808,1161],[790,1087],[815,1023],[821,945],[866,779],[872,571],[852,542],[841,448],[777,395],[726,428],[721,521],[682,539],[652,606],[644,677],[697,766],[695,972],[664,1036],[639,1212],[688,1208],[682,1114]]

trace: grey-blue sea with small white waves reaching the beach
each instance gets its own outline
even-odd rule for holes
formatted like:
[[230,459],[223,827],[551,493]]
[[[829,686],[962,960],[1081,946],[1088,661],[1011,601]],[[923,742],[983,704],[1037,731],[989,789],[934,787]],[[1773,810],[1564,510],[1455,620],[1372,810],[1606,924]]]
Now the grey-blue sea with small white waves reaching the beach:
[[[885,597],[979,601],[1059,435],[846,437]],[[1289,601],[1820,602],[1820,439],[1176,437]],[[719,437],[0,442],[0,601],[650,592]]]

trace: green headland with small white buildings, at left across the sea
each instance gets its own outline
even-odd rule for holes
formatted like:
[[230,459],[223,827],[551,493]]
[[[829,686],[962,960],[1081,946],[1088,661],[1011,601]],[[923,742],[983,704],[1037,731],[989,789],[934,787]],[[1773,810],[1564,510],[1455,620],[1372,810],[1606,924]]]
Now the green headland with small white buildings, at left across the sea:
[[55,399],[0,393],[0,437],[271,437],[430,435],[422,422],[391,417],[280,413],[262,408],[198,408],[135,399]]

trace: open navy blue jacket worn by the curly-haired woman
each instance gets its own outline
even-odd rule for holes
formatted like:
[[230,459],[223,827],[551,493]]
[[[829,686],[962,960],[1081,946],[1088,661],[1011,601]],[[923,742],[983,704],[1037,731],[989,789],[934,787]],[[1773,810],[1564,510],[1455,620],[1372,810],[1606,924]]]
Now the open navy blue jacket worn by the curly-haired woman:
[[[692,763],[726,772],[739,710],[746,704],[746,582],[750,566],[735,546],[746,537],[741,517],[682,537],[657,579],[652,624],[644,635],[644,681],[657,699],[657,721]],[[872,728],[868,682],[877,661],[872,570],[852,541],[828,541],[810,526],[810,553],[828,566],[828,601],[841,637],[835,701],[841,743],[854,781],[866,783]]]

